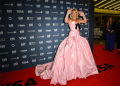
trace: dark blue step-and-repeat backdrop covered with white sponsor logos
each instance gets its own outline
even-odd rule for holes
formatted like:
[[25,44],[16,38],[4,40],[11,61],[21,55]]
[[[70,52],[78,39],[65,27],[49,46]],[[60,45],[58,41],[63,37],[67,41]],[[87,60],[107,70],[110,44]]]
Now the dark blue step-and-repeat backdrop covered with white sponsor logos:
[[88,0],[1,0],[0,73],[53,61],[69,33],[63,21],[69,8],[84,12],[87,23],[81,24],[80,34],[90,43]]

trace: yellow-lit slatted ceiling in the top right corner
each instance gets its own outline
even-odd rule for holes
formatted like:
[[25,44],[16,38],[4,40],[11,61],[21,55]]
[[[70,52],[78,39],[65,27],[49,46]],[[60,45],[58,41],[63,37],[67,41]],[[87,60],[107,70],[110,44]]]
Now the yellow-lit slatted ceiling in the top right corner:
[[94,8],[120,11],[120,0],[93,0]]

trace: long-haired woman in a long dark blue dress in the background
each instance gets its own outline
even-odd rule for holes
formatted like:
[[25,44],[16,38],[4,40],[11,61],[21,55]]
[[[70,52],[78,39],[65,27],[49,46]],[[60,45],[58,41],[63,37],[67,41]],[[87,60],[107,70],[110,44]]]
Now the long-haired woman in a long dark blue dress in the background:
[[110,17],[106,25],[107,25],[106,43],[103,50],[107,49],[108,51],[112,51],[114,50],[116,23],[113,22],[112,17]]

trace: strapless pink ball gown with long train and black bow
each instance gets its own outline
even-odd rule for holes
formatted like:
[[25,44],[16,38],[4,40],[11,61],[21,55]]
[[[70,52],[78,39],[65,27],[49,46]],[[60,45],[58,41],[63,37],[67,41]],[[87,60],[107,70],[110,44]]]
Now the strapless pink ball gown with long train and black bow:
[[35,67],[36,76],[51,79],[50,84],[65,85],[68,80],[98,74],[88,41],[80,36],[75,24],[75,21],[68,24],[69,35],[60,43],[54,61]]

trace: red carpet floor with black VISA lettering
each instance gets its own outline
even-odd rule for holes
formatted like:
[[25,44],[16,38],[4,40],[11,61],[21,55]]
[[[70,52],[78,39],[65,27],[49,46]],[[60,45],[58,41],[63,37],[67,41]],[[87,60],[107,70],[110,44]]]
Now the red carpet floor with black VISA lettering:
[[[94,44],[94,59],[99,74],[86,79],[67,82],[66,86],[120,86],[120,55],[117,50],[108,52],[104,46]],[[18,85],[19,84],[19,85]],[[37,85],[36,85],[37,84]],[[54,86],[49,80],[35,76],[35,67],[0,74],[0,86]],[[59,86],[59,84],[57,84]]]

